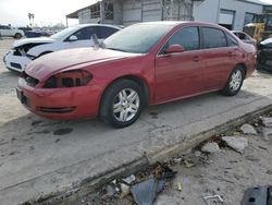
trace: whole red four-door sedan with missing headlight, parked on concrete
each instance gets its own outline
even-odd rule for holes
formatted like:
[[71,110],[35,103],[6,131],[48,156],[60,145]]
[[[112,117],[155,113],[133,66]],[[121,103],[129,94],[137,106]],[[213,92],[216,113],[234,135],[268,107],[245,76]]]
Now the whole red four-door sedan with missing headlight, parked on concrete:
[[115,33],[100,47],[46,55],[18,80],[17,97],[50,119],[99,116],[132,124],[146,105],[208,92],[236,95],[256,67],[256,49],[199,22],[151,22]]

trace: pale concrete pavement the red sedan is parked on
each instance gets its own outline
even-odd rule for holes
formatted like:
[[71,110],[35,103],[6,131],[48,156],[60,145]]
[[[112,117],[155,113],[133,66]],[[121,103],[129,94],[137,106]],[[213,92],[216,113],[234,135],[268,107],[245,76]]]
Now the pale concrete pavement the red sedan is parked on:
[[[12,40],[0,40],[0,59]],[[15,97],[17,74],[0,62],[0,202],[13,205],[99,178],[173,146],[190,146],[198,133],[271,105],[272,75],[255,73],[235,97],[202,95],[145,110],[129,128],[99,120],[51,121]],[[158,155],[158,154],[161,154]]]

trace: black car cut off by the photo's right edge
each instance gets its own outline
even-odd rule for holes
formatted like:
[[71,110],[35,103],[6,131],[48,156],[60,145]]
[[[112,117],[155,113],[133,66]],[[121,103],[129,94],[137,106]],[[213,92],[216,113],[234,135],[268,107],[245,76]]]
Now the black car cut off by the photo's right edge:
[[257,70],[272,72],[272,38],[268,38],[258,45]]

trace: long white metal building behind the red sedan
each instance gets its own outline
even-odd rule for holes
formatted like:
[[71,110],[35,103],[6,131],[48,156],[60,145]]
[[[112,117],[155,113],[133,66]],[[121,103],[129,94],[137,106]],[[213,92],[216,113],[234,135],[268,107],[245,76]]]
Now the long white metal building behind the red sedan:
[[259,0],[102,0],[66,17],[78,19],[79,24],[125,26],[148,21],[195,20],[242,29],[254,14],[262,13],[263,5]]

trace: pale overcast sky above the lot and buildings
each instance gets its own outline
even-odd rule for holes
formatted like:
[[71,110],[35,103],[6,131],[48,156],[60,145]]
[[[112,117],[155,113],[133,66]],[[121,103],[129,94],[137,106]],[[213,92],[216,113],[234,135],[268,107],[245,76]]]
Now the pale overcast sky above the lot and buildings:
[[[97,0],[0,0],[0,24],[26,26],[29,24],[27,14],[35,14],[35,24],[54,25],[65,24],[65,15],[89,5]],[[272,0],[262,0],[272,3]],[[75,24],[77,21],[70,21]]]

